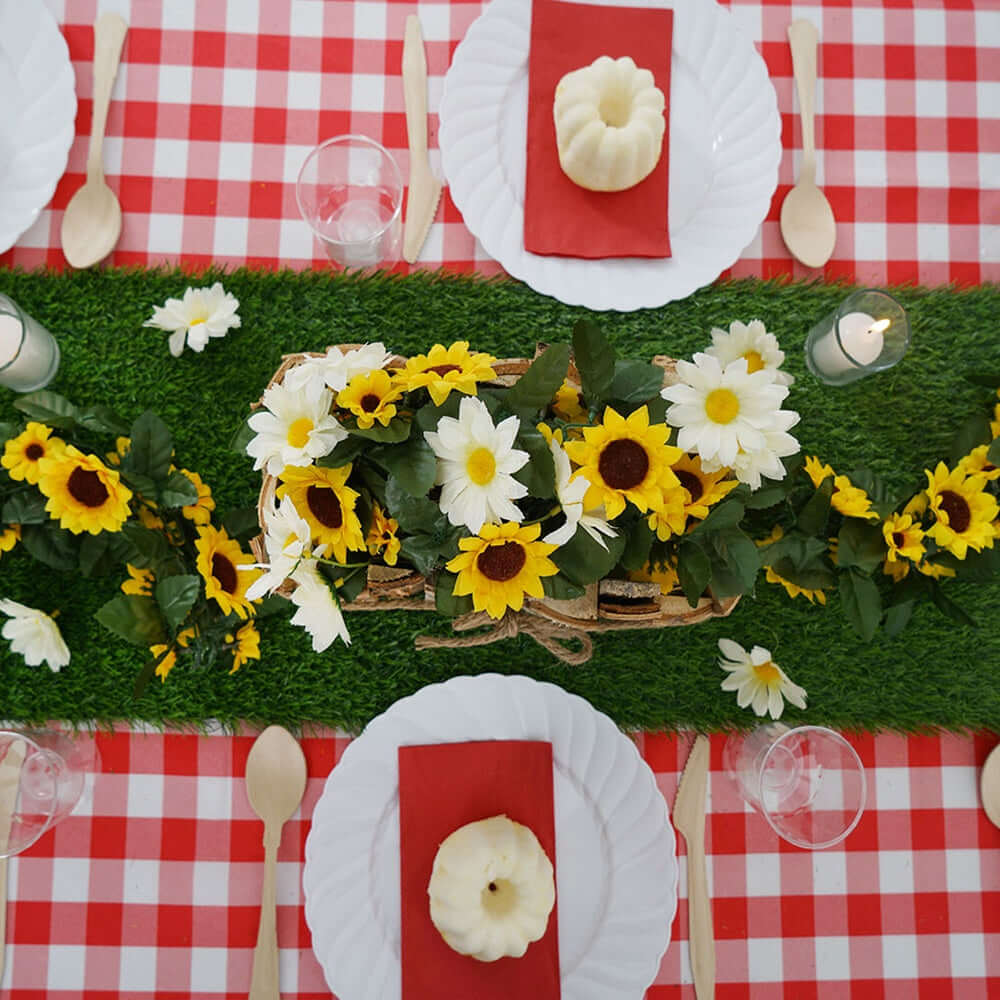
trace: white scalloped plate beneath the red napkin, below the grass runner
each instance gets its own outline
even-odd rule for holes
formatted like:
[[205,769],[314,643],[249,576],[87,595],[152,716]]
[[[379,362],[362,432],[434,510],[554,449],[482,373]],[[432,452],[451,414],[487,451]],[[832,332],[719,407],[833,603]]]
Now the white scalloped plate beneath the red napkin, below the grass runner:
[[330,989],[340,1000],[400,998],[398,748],[482,739],[552,744],[563,1000],[641,1000],[677,908],[676,844],[653,772],[583,698],[499,674],[396,702],[330,773],[302,878]]

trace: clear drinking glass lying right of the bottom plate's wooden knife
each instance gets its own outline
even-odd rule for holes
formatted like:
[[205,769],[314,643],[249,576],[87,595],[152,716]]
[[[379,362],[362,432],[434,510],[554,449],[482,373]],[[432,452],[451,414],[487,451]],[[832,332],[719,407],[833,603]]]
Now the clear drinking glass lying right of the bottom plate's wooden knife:
[[832,729],[758,726],[726,740],[723,763],[741,798],[796,847],[839,844],[865,808],[861,758]]

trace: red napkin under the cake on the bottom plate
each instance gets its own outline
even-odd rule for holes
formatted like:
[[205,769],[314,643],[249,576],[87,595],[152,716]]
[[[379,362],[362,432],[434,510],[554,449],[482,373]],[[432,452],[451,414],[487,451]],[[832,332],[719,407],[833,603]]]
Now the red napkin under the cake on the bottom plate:
[[556,907],[523,958],[460,955],[431,922],[427,885],[441,841],[505,814],[534,831],[556,861],[552,744],[527,740],[399,748],[403,1000],[559,1000]]

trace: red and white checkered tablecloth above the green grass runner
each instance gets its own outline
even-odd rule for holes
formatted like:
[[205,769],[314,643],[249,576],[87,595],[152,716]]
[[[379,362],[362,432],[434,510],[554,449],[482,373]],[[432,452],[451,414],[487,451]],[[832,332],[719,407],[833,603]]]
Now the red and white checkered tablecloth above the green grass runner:
[[[51,206],[0,265],[64,266],[59,227],[84,177],[98,6],[131,24],[105,144],[124,209],[110,262],[294,268],[328,263],[295,205],[312,146],[365,133],[406,173],[406,15],[418,10],[423,25],[435,147],[444,74],[483,8],[482,0],[45,2],[76,69],[78,138]],[[1000,279],[996,0],[731,0],[731,9],[767,62],[785,152],[767,219],[727,273],[815,273],[792,261],[778,231],[801,143],[785,29],[806,17],[821,39],[817,181],[838,219],[825,275],[868,284]],[[420,266],[499,270],[447,193],[438,218]]]

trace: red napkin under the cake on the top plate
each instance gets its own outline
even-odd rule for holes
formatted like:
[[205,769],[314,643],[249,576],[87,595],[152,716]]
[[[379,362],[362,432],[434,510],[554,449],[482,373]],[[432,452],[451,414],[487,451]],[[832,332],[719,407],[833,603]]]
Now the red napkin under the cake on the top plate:
[[[564,257],[669,257],[670,45],[674,12],[534,0],[528,57],[528,167],[524,246]],[[552,102],[570,70],[598,56],[631,56],[667,99],[663,153],[627,191],[588,191],[559,166]]]

